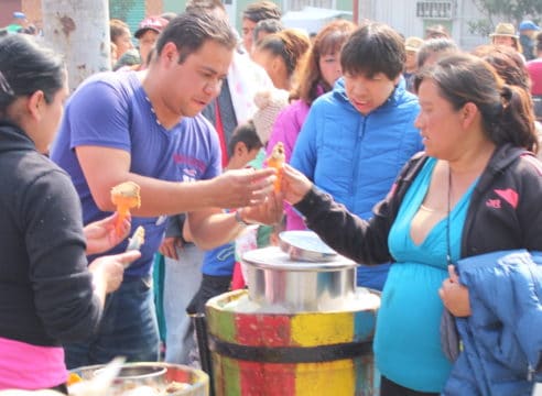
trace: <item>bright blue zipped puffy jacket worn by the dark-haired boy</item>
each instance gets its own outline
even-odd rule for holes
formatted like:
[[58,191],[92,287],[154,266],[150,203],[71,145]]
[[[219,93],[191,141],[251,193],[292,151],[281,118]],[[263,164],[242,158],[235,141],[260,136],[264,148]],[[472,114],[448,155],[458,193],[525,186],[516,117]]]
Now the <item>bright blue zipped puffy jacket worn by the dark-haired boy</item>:
[[[340,78],[311,107],[291,164],[367,220],[403,165],[423,150],[414,128],[419,112],[418,98],[401,79],[382,106],[364,116],[349,102]],[[358,267],[358,285],[381,289],[387,273],[388,266]]]

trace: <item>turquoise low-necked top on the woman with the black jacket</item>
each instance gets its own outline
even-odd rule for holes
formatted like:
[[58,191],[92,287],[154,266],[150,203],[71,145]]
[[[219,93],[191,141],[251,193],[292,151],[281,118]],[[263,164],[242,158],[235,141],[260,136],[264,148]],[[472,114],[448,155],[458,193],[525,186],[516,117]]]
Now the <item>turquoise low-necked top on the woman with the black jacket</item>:
[[[389,234],[395,263],[384,285],[377,318],[375,354],[380,373],[389,380],[419,392],[441,392],[452,364],[441,349],[440,321],[443,304],[438,296],[448,276],[447,217],[437,222],[416,245],[410,233],[431,182],[436,160],[430,158],[401,204]],[[452,261],[460,255],[463,227],[474,185],[451,210],[449,252]]]

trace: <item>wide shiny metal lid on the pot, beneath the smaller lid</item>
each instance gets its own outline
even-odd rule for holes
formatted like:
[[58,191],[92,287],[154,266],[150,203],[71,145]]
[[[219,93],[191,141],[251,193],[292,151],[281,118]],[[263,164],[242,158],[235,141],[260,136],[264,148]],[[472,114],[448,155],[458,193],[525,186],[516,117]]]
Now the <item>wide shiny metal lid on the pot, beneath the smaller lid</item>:
[[338,271],[356,266],[354,261],[337,253],[333,256],[327,256],[327,261],[322,262],[293,260],[279,246],[246,252],[242,255],[242,262],[260,268],[311,272]]

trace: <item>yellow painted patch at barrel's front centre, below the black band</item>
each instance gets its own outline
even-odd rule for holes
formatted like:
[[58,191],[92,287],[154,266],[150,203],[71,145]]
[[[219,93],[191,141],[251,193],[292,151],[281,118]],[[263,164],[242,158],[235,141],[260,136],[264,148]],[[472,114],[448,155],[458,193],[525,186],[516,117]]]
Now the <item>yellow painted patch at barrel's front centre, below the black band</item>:
[[354,362],[302,363],[295,367],[295,396],[354,395]]

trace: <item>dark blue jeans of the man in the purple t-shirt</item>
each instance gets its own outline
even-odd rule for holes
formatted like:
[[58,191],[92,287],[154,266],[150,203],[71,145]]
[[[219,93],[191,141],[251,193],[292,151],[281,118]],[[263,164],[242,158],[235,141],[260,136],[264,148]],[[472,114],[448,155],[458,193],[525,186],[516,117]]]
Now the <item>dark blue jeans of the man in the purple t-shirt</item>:
[[106,299],[98,331],[88,342],[64,345],[66,366],[109,363],[116,356],[127,362],[156,362],[159,331],[152,277],[126,278]]

